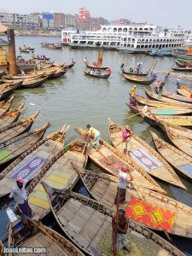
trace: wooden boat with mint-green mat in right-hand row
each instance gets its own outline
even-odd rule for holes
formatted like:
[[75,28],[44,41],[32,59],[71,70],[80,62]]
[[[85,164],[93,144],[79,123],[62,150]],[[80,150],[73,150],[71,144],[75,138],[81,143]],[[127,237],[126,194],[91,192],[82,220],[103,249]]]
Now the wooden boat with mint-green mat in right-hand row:
[[[143,107],[142,106],[137,106],[134,107],[133,105],[127,104],[126,103],[127,108],[130,108],[132,112],[134,113],[141,113],[143,111]],[[174,106],[172,106],[172,108],[164,108],[164,106],[160,106],[160,108],[154,108],[154,107],[148,107],[148,111],[150,111],[150,113],[153,114],[157,114],[157,115],[183,115],[183,114],[190,114],[192,113],[192,108],[189,109],[183,109],[183,108],[174,108]]]

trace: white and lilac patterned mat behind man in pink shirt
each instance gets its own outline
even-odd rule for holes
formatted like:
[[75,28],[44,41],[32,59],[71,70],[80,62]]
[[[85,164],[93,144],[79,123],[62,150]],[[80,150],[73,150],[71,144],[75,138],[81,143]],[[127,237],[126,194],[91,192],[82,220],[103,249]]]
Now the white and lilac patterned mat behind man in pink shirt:
[[137,162],[137,165],[142,166],[147,172],[162,166],[161,163],[149,155],[144,148],[131,150],[130,154],[132,159]]

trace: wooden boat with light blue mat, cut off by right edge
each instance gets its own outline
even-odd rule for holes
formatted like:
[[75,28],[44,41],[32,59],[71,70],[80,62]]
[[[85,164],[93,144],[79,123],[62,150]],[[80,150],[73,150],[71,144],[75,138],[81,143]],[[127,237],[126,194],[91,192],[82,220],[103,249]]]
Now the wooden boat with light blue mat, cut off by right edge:
[[166,161],[175,168],[176,172],[183,177],[192,181],[192,158],[183,151],[173,147],[171,144],[166,143],[156,133],[151,131],[151,137],[154,142],[154,147],[166,159]]

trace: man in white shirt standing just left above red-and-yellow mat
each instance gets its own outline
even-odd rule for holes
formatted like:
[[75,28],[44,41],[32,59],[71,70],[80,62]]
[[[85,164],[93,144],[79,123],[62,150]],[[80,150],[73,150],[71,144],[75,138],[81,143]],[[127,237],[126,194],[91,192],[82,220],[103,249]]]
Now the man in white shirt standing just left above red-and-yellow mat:
[[[128,166],[122,166],[119,169],[119,182],[118,182],[118,191],[117,195],[115,196],[114,203],[117,204],[119,201],[120,204],[125,204],[127,201],[126,199],[126,184],[133,180],[131,175],[131,171]],[[119,193],[118,193],[119,192]]]

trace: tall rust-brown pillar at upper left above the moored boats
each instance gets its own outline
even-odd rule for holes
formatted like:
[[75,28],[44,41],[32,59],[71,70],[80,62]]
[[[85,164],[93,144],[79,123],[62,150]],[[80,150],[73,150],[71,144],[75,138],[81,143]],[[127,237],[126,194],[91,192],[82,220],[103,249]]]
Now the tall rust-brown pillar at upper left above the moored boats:
[[15,33],[14,29],[8,29],[8,43],[9,43],[9,73],[17,74],[16,52],[15,52]]

